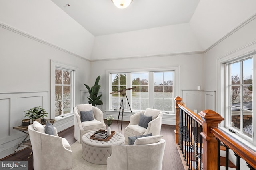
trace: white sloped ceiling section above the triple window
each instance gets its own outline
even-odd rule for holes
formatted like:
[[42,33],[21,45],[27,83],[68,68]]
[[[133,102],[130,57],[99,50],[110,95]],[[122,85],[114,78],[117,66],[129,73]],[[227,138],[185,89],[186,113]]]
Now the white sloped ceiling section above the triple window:
[[95,37],[92,59],[202,51],[188,23]]

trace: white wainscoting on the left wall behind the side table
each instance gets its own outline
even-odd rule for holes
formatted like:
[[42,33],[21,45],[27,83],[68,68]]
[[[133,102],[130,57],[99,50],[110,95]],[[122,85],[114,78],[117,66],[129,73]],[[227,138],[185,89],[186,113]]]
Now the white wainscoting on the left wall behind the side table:
[[[17,92],[0,93],[0,158],[12,154],[17,145],[25,138],[26,134],[12,129],[20,126],[21,120],[26,119],[25,110],[42,106],[46,112],[49,109],[48,92]],[[49,113],[49,112],[48,112]],[[23,149],[23,147],[20,147]]]

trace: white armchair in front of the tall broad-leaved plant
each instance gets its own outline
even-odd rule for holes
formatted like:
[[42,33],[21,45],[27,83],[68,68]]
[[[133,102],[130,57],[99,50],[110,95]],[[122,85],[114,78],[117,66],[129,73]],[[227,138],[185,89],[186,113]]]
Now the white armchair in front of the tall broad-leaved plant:
[[[88,108],[92,108],[94,120],[90,121],[83,121],[81,122],[81,114],[80,111],[83,111],[82,109],[86,108],[87,110],[90,110]],[[92,106],[92,104],[81,104],[76,105],[74,108],[74,125],[75,125],[75,139],[81,143],[82,136],[90,131],[96,131],[99,129],[106,129],[106,125],[103,120],[103,113],[102,111]]]

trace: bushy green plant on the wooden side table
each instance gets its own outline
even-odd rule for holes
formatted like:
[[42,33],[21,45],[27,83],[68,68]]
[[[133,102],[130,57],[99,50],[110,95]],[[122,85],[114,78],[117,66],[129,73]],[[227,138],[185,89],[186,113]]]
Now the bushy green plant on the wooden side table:
[[47,117],[47,114],[45,109],[43,109],[41,106],[33,107],[30,110],[25,110],[24,112],[27,112],[24,117],[28,117],[32,121],[38,121],[41,123],[41,118]]

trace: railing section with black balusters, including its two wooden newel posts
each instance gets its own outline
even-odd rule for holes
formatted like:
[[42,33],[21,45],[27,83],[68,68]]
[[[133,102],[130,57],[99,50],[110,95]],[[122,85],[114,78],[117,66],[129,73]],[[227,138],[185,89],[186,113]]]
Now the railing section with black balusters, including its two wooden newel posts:
[[217,170],[218,141],[210,132],[224,120],[212,110],[196,114],[188,109],[182,98],[176,97],[176,143],[182,151],[188,170]]

